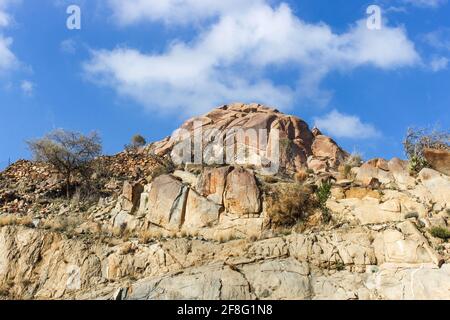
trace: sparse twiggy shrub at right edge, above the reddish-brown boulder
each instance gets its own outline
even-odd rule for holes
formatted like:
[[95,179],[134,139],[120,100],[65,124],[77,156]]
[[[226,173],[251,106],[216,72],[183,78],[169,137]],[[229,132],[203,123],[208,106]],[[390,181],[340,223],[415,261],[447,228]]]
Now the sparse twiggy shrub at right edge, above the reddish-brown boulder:
[[436,129],[409,128],[403,146],[409,159],[411,173],[418,173],[429,166],[423,154],[425,148],[450,150],[450,132]]

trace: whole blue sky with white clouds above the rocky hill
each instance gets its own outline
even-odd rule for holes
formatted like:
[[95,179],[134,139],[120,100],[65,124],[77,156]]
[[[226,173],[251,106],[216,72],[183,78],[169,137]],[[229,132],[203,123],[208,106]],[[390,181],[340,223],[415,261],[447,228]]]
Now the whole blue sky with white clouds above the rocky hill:
[[446,0],[0,0],[0,168],[52,129],[98,130],[113,154],[235,101],[403,157],[409,126],[450,128],[449,61]]

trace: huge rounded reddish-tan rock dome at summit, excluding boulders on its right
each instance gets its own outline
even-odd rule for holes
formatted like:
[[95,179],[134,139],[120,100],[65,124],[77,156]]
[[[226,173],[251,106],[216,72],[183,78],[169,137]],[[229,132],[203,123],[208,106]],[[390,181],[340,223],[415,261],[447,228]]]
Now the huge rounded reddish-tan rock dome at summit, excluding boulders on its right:
[[[287,146],[281,149],[279,159],[276,159],[280,161],[283,170],[300,170],[311,155],[314,137],[304,121],[259,104],[242,103],[224,105],[203,116],[189,119],[169,140],[157,146],[159,154],[170,153],[180,159],[181,150],[174,147],[193,137],[196,124],[201,124],[202,128],[199,140],[204,150],[202,160],[206,164],[245,164],[261,167],[271,158],[276,130],[279,132],[281,145]],[[248,137],[256,135],[258,138],[261,135],[261,140],[241,139],[236,129],[243,129]],[[230,151],[234,153],[235,150],[246,150],[244,153],[247,157],[227,158],[231,154]]]

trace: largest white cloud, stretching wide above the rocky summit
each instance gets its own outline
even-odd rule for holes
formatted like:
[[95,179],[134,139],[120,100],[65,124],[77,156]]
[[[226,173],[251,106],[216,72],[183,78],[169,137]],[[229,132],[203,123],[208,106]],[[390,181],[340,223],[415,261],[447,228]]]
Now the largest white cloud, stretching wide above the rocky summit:
[[[122,24],[215,17],[204,22],[192,41],[171,42],[163,53],[127,47],[94,50],[84,64],[92,81],[168,112],[194,114],[230,101],[264,102],[282,109],[303,99],[324,104],[329,93],[320,83],[332,71],[360,66],[389,70],[420,61],[403,28],[373,31],[361,20],[338,34],[324,23],[301,20],[287,4],[271,6],[257,0],[110,0],[110,4]],[[273,70],[295,72],[297,81],[282,85],[270,76]]]

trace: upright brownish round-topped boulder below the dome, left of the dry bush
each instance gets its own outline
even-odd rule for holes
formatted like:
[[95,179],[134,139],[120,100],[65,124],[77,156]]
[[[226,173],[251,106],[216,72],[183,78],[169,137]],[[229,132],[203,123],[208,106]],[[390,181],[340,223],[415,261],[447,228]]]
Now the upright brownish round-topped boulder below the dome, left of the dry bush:
[[260,191],[253,173],[236,168],[228,174],[224,204],[227,212],[232,214],[260,213]]

